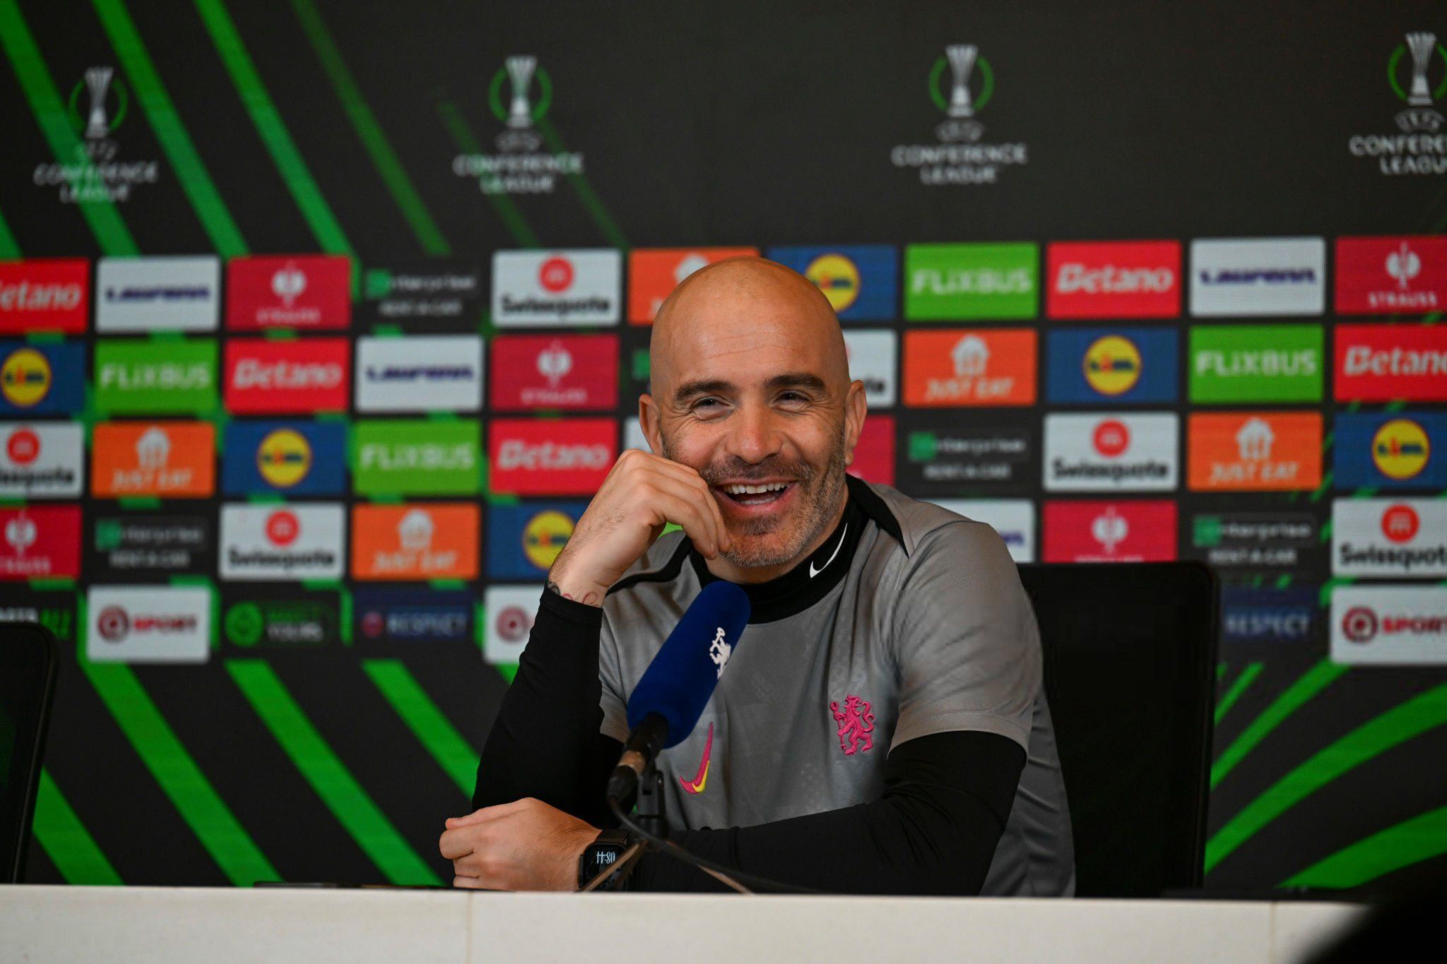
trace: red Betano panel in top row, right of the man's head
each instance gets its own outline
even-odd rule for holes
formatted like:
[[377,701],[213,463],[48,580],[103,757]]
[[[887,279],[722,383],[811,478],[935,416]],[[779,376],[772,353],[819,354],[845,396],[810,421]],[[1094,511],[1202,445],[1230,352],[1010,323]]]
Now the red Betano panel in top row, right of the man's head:
[[1049,318],[1175,318],[1179,241],[1068,241],[1045,254]]

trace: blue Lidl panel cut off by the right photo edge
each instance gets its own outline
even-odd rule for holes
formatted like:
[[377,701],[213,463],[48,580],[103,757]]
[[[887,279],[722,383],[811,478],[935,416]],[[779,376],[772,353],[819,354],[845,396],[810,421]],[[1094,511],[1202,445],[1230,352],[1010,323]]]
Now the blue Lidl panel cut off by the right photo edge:
[[1331,448],[1337,489],[1447,487],[1444,412],[1344,412]]

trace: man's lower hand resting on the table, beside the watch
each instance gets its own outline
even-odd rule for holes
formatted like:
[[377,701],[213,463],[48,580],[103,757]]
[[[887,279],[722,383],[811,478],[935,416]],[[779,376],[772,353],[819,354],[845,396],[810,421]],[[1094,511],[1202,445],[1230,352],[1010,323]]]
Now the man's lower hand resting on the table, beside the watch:
[[438,847],[454,887],[576,890],[577,858],[598,828],[532,798],[447,819]]

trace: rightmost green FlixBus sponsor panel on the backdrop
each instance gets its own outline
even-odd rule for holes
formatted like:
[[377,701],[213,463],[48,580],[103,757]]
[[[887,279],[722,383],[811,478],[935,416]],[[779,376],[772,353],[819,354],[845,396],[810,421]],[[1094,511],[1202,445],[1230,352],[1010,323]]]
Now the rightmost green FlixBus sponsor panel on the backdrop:
[[1191,328],[1192,402],[1320,402],[1321,325]]

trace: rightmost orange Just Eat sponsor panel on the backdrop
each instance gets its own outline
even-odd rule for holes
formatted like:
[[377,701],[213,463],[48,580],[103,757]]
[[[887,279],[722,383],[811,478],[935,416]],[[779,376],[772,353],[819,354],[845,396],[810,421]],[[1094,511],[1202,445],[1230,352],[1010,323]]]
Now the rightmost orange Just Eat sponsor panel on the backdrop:
[[1192,491],[1282,491],[1321,484],[1320,412],[1192,415]]

